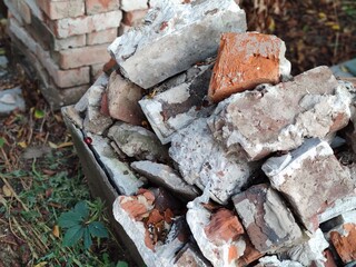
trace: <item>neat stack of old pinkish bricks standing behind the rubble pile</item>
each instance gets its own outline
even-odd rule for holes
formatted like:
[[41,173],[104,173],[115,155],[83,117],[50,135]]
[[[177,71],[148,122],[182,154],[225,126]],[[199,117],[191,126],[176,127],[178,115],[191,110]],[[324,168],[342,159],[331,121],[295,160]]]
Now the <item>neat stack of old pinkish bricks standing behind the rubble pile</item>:
[[108,46],[140,23],[147,0],[4,0],[9,33],[53,109],[77,102],[110,59]]

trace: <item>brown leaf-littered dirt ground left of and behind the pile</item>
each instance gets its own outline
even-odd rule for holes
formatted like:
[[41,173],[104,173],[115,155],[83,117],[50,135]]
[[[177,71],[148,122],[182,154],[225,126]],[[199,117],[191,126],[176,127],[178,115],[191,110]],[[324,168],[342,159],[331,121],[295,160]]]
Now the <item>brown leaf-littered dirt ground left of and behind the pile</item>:
[[[287,59],[291,61],[294,75],[316,66],[332,66],[356,57],[356,2],[354,0],[241,0],[240,6],[246,10],[249,30],[273,33],[286,42]],[[33,172],[33,157],[31,158],[31,155],[28,158],[23,157],[24,152],[29,151],[29,147],[36,148],[32,154],[39,152],[44,156],[53,149],[53,145],[57,146],[56,151],[60,151],[52,154],[53,159],[37,161],[36,168],[40,169],[47,178],[55,177],[55,174],[62,169],[67,170],[68,178],[77,177],[80,172],[78,157],[70,148],[70,136],[60,112],[50,110],[38,89],[36,77],[29,79],[26,76],[26,67],[21,66],[21,61],[18,61],[11,51],[6,29],[0,27],[0,53],[6,53],[11,59],[11,71],[1,78],[0,91],[21,86],[27,102],[24,112],[16,111],[11,116],[0,118],[0,138],[4,140],[0,146],[0,200],[6,199],[6,204],[11,206],[11,216],[16,218],[16,220],[9,219],[9,212],[6,212],[4,202],[1,200],[0,267],[33,266],[36,263],[33,247],[23,238],[21,230],[30,237],[36,236],[37,233],[30,230],[30,220],[27,222],[22,221],[22,217],[17,217],[23,211],[23,206],[16,199],[16,196],[31,187],[33,177],[21,176],[21,179],[13,177],[10,179],[7,176],[7,174],[19,174],[21,170]],[[61,159],[59,164],[50,169],[48,160],[58,161],[59,158]],[[7,186],[6,181],[10,185]],[[85,178],[79,178],[78,185],[85,185]],[[4,188],[10,189],[10,192]],[[41,194],[46,198],[50,191],[44,190]],[[55,208],[58,205],[50,201],[48,204]],[[40,209],[39,212],[43,214],[41,218],[46,222],[46,209],[36,205],[33,207]],[[66,210],[66,207],[62,207],[62,210]],[[110,244],[106,246],[98,247],[98,254],[112,250]],[[39,244],[38,247],[46,250],[43,244]],[[41,250],[37,253],[40,254]]]

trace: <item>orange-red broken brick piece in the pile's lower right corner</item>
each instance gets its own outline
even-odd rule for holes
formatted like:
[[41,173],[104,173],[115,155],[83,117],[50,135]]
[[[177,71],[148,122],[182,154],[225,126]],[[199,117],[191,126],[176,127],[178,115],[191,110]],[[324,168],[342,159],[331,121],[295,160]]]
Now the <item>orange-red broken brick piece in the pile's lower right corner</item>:
[[332,231],[330,240],[344,264],[356,260],[356,224],[345,224],[340,231]]

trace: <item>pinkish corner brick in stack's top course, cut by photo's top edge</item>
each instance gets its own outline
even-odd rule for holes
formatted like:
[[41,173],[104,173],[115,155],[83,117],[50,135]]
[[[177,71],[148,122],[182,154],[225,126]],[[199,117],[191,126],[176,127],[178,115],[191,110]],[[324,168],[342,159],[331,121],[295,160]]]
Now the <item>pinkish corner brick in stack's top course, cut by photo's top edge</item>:
[[37,0],[37,4],[51,20],[85,14],[85,3],[82,0]]

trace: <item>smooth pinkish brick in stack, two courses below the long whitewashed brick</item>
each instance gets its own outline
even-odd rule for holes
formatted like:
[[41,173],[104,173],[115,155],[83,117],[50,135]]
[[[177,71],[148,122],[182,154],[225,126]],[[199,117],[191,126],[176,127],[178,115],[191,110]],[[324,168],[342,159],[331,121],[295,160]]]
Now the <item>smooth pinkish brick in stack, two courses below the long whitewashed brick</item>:
[[110,59],[107,48],[108,44],[99,44],[61,50],[58,52],[59,67],[62,69],[72,69],[82,66],[103,63]]

